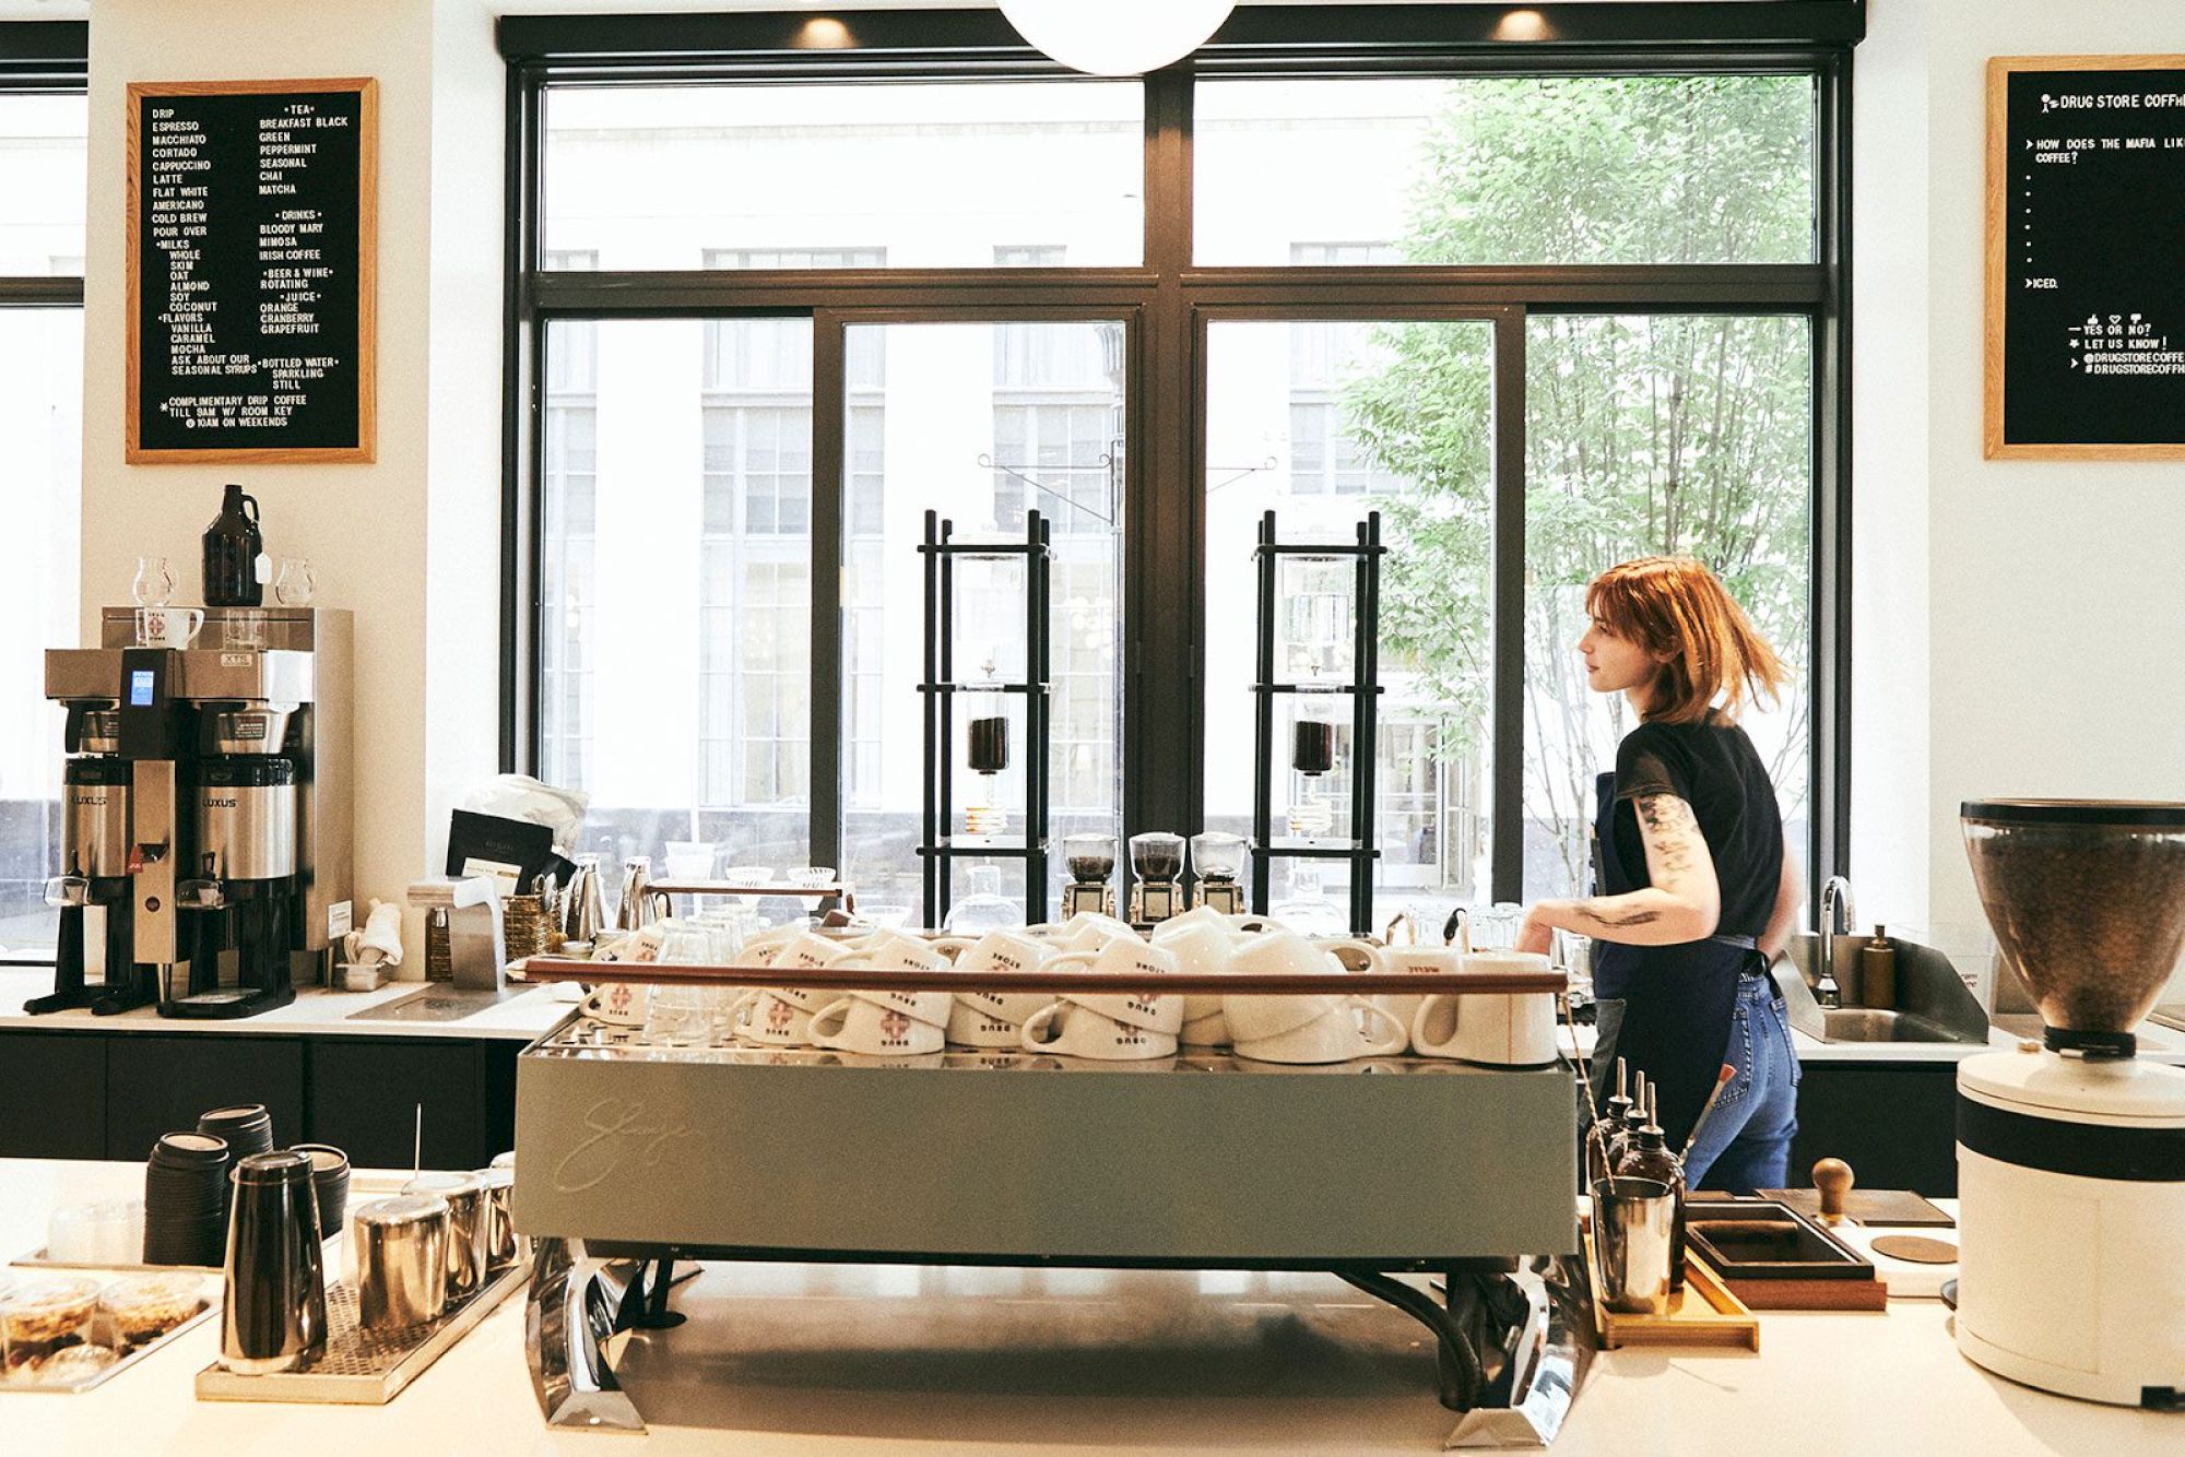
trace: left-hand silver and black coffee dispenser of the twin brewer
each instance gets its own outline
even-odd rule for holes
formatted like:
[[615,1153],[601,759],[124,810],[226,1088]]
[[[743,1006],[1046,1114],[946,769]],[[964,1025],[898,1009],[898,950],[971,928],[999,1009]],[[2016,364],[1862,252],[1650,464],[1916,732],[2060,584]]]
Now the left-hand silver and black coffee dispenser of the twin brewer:
[[[61,765],[61,874],[46,883],[46,904],[59,907],[52,996],[24,1011],[90,1007],[111,1016],[153,1000],[151,976],[135,970],[129,915],[129,760],[120,758],[120,712],[68,706]],[[98,911],[101,979],[90,974],[85,911]]]

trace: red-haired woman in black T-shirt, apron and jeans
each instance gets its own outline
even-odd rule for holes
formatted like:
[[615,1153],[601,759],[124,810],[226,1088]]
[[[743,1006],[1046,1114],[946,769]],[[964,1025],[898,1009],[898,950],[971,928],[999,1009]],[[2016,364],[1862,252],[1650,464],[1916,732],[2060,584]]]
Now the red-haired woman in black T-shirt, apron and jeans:
[[1599,1040],[1593,1097],[1623,1057],[1658,1088],[1672,1149],[1689,1136],[1722,1064],[1735,1077],[1685,1158],[1691,1188],[1779,1188],[1798,1129],[1798,1057],[1768,963],[1790,937],[1800,887],[1774,784],[1737,725],[1750,695],[1776,697],[1783,664],[1689,557],[1641,557],[1586,588],[1578,640],[1586,686],[1621,692],[1639,727],[1597,780],[1597,889],[1543,900],[1519,950],[1549,931],[1595,939]]

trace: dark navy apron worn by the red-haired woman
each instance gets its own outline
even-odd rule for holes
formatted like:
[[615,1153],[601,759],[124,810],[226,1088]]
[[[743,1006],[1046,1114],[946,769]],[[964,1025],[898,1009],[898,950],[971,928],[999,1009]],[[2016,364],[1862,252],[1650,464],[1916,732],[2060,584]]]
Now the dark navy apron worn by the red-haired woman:
[[[1643,889],[1617,854],[1617,775],[1595,780],[1593,837],[1599,854],[1599,891],[1626,896]],[[1715,1090],[1731,1044],[1737,979],[1765,968],[1748,935],[1715,935],[1680,946],[1626,946],[1593,941],[1593,1105],[1615,1092],[1615,1062],[1645,1073],[1658,1088],[1661,1127],[1672,1149],[1685,1147],[1706,1094]]]

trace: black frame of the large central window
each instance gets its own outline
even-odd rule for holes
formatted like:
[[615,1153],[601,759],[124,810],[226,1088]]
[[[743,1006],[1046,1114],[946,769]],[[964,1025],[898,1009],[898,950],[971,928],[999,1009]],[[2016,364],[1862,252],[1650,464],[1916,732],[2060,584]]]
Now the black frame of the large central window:
[[[1523,358],[1534,312],[1790,315],[1811,323],[1809,893],[1849,874],[1851,817],[1851,79],[1864,0],[1543,4],[1543,39],[1499,39],[1501,4],[1239,7],[1145,76],[1145,253],[1136,266],[542,273],[544,94],[555,83],[1068,79],[999,11],[865,11],[846,46],[811,13],[522,15],[498,22],[507,83],[503,767],[538,751],[540,339],[555,319],[813,319],[811,856],[841,861],[839,579],[846,321],[1123,319],[1125,664],[1121,830],[1204,821],[1204,350],[1215,319],[1473,319],[1495,325],[1492,893],[1523,898]],[[1191,85],[1243,76],[1809,74],[1816,247],[1798,264],[1200,266]],[[1503,391],[1516,391],[1514,402]],[[1182,664],[1178,668],[1176,664]],[[1182,725],[1182,732],[1178,732]]]

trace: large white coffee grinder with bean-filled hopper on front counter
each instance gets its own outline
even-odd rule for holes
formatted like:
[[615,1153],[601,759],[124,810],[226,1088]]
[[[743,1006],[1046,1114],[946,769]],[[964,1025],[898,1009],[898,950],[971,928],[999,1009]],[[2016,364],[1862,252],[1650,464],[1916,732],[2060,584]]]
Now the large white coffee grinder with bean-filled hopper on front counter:
[[2043,1044],[1958,1064],[1958,1350],[2030,1387],[2185,1407],[2185,1070],[2133,1029],[2185,948],[2185,804],[1960,810]]

